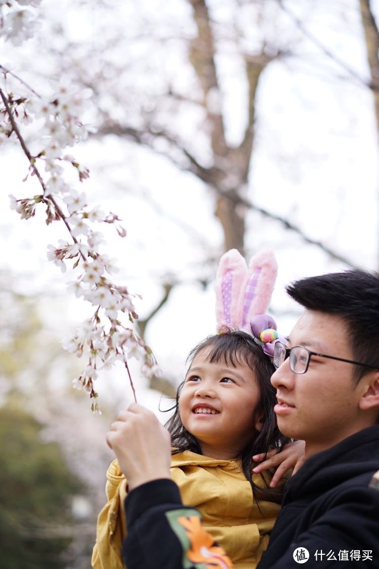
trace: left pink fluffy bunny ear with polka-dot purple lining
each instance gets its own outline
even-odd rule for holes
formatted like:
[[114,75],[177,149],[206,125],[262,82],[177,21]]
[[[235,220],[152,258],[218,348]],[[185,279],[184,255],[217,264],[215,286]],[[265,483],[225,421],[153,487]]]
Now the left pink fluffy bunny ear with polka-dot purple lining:
[[[239,296],[247,278],[245,259],[237,249],[231,249],[220,258],[216,273],[216,323],[219,332],[241,325]],[[244,289],[243,289],[244,290]]]

